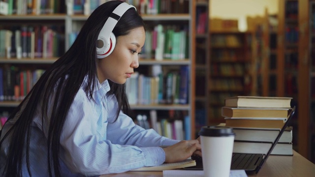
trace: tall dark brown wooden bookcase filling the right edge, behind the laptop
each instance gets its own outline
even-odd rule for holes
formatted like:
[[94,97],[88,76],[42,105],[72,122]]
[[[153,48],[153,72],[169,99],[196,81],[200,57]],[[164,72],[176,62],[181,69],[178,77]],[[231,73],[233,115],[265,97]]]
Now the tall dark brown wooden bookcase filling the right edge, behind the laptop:
[[293,148],[314,163],[315,5],[313,0],[279,2],[276,96],[293,97],[291,106],[297,106],[292,122]]

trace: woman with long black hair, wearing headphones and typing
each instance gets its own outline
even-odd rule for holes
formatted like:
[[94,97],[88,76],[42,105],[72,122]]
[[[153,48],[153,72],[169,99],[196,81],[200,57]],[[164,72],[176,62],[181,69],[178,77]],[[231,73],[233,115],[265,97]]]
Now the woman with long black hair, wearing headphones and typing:
[[0,176],[95,176],[200,155],[197,140],[167,139],[124,114],[129,107],[124,84],[139,66],[145,29],[128,7],[112,30],[114,50],[103,58],[100,36],[121,3],[95,9],[70,49],[8,118],[0,139]]

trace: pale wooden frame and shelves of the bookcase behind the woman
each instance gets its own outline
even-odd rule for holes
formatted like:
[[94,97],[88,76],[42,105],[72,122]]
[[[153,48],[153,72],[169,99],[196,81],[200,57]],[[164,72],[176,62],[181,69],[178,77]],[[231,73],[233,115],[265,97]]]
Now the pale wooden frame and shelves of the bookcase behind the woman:
[[[176,2],[183,2],[182,0],[177,0]],[[151,27],[158,24],[165,25],[178,25],[187,27],[188,35],[188,58],[180,60],[162,59],[156,60],[154,58],[143,58],[139,60],[140,67],[137,71],[144,72],[148,74],[148,70],[154,65],[160,65],[163,68],[167,67],[180,67],[183,65],[189,68],[189,88],[188,88],[188,104],[149,104],[149,105],[130,105],[131,109],[135,112],[137,111],[181,111],[186,116],[189,116],[189,132],[190,138],[195,138],[195,12],[196,4],[194,0],[184,0],[187,5],[187,13],[163,13],[163,14],[142,14],[145,23]],[[186,6],[185,6],[186,7]],[[10,16],[0,16],[0,23],[6,24],[9,27],[11,24],[32,24],[39,25],[41,23],[49,24],[61,24],[64,27],[63,36],[64,49],[67,50],[70,46],[69,33],[78,31],[83,25],[88,16],[85,15],[67,15],[67,14],[52,14],[52,15],[10,15]],[[2,29],[4,27],[0,27]],[[19,65],[23,68],[47,68],[51,63],[56,61],[58,56],[53,58],[23,58],[23,59],[7,59],[0,58],[0,65]],[[0,111],[12,110],[18,106],[19,101],[1,101]]]

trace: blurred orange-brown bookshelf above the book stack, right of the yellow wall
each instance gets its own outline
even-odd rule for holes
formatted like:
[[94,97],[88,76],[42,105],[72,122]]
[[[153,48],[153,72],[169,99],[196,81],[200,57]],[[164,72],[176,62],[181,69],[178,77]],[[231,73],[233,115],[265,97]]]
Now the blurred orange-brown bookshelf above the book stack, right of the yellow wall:
[[278,15],[265,14],[261,18],[253,18],[253,72],[252,95],[276,96],[277,85],[277,29]]

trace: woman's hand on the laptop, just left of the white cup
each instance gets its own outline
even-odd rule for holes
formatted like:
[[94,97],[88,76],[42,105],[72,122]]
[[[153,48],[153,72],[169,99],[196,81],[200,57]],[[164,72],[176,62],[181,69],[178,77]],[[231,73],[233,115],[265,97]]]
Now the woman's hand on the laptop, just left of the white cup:
[[163,148],[165,163],[179,162],[189,158],[193,153],[201,156],[201,145],[198,140],[188,140]]

